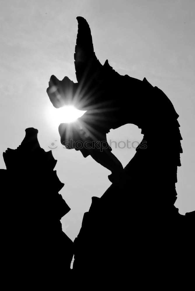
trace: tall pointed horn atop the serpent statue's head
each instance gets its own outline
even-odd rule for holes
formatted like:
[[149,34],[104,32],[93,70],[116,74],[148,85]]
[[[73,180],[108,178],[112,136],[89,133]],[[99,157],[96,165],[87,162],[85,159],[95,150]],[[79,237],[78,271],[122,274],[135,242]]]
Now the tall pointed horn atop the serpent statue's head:
[[96,58],[92,42],[91,30],[85,18],[78,16],[78,34],[75,46],[75,71],[78,82],[91,80],[102,68]]

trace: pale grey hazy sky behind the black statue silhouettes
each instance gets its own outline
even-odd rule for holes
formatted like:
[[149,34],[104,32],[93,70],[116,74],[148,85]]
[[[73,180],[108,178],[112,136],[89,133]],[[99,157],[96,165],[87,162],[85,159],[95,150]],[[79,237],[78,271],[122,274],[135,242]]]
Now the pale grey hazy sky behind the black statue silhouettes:
[[[71,211],[62,219],[74,239],[91,197],[100,197],[110,185],[110,172],[91,157],[66,150],[58,126],[47,114],[52,106],[46,88],[52,74],[75,78],[74,49],[77,16],[86,18],[96,56],[120,74],[146,79],[169,97],[183,138],[182,167],[178,168],[175,206],[181,214],[195,210],[194,153],[194,0],[0,0],[0,168],[2,153],[17,148],[25,128],[38,129],[38,140],[58,160],[56,170],[65,183],[60,191]],[[140,129],[125,125],[112,130],[109,140],[141,141]],[[53,145],[54,143],[54,145]],[[55,148],[57,146],[57,148]],[[163,147],[173,147],[163,141]],[[113,149],[123,166],[133,149]],[[130,208],[131,210],[131,205]]]

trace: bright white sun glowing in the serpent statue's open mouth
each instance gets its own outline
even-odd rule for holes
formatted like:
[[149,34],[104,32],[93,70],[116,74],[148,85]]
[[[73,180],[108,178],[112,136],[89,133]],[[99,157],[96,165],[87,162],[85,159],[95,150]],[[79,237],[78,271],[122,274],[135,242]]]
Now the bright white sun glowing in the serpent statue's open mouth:
[[52,126],[58,127],[60,123],[71,123],[81,117],[86,111],[78,110],[72,105],[66,105],[61,108],[50,106],[47,111],[47,118]]

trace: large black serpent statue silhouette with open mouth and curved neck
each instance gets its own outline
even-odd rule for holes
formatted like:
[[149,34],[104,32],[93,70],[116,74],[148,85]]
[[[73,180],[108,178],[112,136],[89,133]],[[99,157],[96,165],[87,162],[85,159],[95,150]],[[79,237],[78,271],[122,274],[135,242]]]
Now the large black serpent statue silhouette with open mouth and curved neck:
[[[89,25],[82,17],[77,20],[78,83],[51,76],[47,93],[56,108],[73,104],[87,110],[75,123],[59,125],[61,142],[112,171],[113,184],[101,198],[92,198],[83,217],[74,241],[73,274],[80,284],[90,278],[94,284],[106,280],[120,288],[127,283],[137,288],[173,283],[176,276],[187,272],[190,276],[194,252],[194,212],[182,216],[174,206],[182,153],[178,114],[168,97],[145,78],[121,76],[108,61],[101,65]],[[106,141],[111,128],[127,123],[142,129],[147,147],[138,147],[124,170],[109,146],[89,149],[71,144],[71,139]]]

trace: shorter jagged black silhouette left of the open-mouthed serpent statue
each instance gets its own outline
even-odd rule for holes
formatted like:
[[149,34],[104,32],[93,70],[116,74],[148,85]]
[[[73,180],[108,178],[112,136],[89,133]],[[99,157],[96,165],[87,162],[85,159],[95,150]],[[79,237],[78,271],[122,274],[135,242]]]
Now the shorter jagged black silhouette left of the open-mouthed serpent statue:
[[73,242],[60,222],[70,210],[58,194],[64,184],[37,133],[27,128],[21,145],[3,153],[6,170],[0,170],[3,280],[22,290],[66,284],[73,257]]

